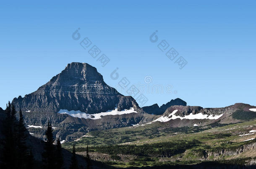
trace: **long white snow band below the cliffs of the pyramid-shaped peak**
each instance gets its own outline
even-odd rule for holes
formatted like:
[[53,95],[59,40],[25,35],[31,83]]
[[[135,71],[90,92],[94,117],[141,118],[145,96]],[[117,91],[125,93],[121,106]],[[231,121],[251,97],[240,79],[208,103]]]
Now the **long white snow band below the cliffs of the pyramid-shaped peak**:
[[86,114],[84,112],[81,111],[68,111],[65,109],[60,109],[60,111],[58,112],[59,114],[68,114],[72,117],[78,117],[78,118],[84,118],[84,119],[101,119],[101,116],[107,116],[107,115],[122,115],[122,114],[130,114],[130,113],[138,113],[136,111],[134,111],[134,108],[130,108],[130,109],[125,109],[122,111],[118,111],[118,108],[115,108],[115,110],[109,110],[106,112],[101,112],[101,113],[97,113],[97,114]]

